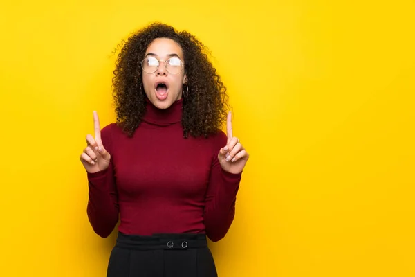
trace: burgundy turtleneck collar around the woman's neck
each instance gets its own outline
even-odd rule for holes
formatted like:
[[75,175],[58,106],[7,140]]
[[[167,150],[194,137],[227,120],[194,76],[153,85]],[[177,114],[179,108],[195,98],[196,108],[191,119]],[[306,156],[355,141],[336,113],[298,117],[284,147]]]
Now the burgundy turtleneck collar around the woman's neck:
[[181,123],[183,112],[183,98],[176,100],[167,109],[158,109],[150,102],[148,98],[146,100],[146,112],[142,120],[150,125],[168,126]]

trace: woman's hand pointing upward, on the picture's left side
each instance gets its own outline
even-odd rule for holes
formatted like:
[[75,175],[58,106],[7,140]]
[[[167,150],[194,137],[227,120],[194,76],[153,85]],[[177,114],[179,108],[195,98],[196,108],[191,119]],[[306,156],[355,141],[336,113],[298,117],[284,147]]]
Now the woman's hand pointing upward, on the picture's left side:
[[100,120],[96,111],[93,111],[93,125],[95,128],[95,139],[91,134],[86,136],[86,148],[80,155],[82,165],[89,173],[106,170],[111,159],[111,155],[102,145]]

